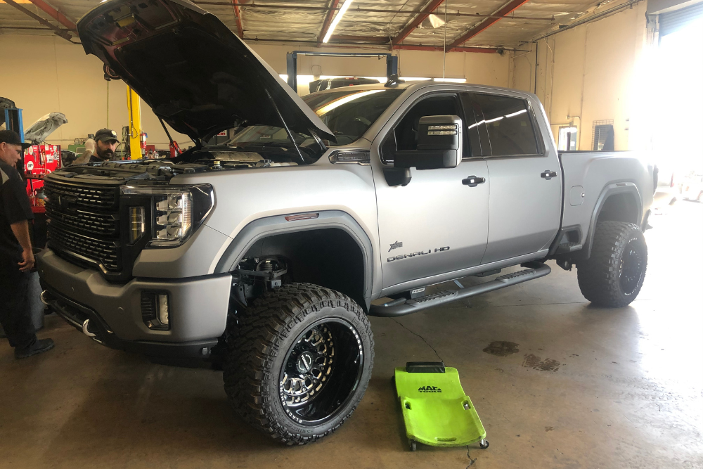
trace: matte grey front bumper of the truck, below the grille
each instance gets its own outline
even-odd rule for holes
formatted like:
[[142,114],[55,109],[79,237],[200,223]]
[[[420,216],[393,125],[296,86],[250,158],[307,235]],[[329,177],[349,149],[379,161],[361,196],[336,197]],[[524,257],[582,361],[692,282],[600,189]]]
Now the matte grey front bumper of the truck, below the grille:
[[[232,277],[134,278],[106,281],[98,271],[71,264],[51,250],[37,256],[43,300],[73,326],[90,320],[89,333],[108,347],[157,356],[207,356],[202,349],[224,333]],[[143,291],[169,295],[170,330],[152,330],[141,316]]]

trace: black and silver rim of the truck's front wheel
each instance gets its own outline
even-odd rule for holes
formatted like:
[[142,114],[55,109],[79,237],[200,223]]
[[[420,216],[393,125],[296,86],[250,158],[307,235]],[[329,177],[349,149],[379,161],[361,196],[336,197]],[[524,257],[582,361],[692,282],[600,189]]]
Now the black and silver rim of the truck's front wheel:
[[343,319],[323,319],[298,335],[278,377],[278,393],[288,418],[321,425],[334,418],[359,387],[363,345]]

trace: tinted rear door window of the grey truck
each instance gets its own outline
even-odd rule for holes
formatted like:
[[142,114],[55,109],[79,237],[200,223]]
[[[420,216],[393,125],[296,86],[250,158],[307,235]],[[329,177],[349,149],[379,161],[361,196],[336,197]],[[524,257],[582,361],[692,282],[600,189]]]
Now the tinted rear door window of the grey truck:
[[480,93],[472,98],[483,111],[493,156],[539,153],[527,101]]

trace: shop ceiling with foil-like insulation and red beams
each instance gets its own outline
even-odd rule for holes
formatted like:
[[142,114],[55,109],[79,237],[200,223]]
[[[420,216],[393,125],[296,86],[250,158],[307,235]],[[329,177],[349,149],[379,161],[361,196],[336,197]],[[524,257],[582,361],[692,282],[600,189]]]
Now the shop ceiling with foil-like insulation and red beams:
[[[611,0],[354,0],[323,44],[344,0],[195,0],[249,43],[485,51],[515,49]],[[616,4],[619,2],[613,2]],[[75,22],[96,0],[0,0],[0,34],[58,34],[78,42]],[[444,20],[446,19],[446,25]]]

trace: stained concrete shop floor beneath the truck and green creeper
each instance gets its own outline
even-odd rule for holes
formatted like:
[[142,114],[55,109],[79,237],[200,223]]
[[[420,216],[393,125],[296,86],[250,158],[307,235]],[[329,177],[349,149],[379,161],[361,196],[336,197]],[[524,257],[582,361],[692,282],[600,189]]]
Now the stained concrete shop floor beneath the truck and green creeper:
[[[372,318],[366,396],[308,446],[252,431],[220,372],[151,364],[48,316],[39,336],[53,351],[15,361],[0,341],[0,468],[701,468],[703,205],[665,208],[630,307],[591,307],[576,269],[552,263],[517,287]],[[519,352],[484,352],[496,341]],[[489,449],[408,451],[393,368],[438,356],[458,368]]]

